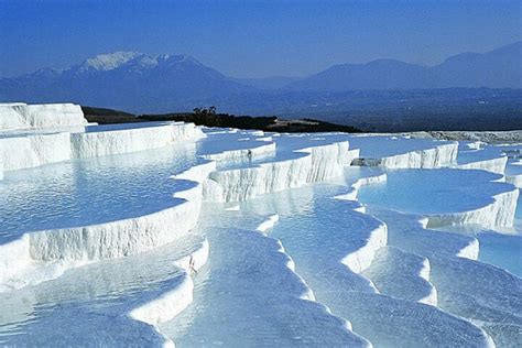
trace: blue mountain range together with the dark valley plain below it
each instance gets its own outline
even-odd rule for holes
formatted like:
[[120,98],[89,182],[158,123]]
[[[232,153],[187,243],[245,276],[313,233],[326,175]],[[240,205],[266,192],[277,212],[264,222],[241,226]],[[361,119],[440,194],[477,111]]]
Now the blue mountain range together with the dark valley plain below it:
[[232,78],[188,55],[100,54],[0,79],[0,101],[73,101],[133,113],[316,118],[366,130],[522,128],[522,42],[434,66],[378,59],[309,76]]

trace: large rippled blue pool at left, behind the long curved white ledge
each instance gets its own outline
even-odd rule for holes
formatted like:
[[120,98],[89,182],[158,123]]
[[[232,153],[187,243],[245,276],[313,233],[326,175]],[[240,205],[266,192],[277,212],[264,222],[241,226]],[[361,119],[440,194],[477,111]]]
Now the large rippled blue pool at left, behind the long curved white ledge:
[[194,184],[171,175],[202,160],[194,144],[73,160],[7,173],[0,182],[0,243],[34,230],[142,216],[178,204]]

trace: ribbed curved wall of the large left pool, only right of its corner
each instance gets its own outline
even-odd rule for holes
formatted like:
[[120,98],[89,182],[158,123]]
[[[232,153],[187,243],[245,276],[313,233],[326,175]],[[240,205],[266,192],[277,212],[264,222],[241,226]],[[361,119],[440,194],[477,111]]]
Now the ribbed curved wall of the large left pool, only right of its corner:
[[104,260],[137,254],[172,242],[197,222],[202,185],[178,194],[192,199],[171,208],[107,224],[29,233],[33,260]]

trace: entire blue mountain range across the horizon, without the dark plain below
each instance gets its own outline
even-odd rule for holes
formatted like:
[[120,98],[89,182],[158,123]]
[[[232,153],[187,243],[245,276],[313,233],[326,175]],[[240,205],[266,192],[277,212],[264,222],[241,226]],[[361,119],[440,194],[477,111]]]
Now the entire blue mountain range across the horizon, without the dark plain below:
[[[449,87],[522,88],[522,42],[479,54],[463,53],[436,66],[379,59],[342,64],[304,78],[231,78],[187,55],[116,52],[67,69],[41,69],[0,78],[0,101],[53,102],[134,112],[191,110],[217,105],[235,109],[267,98],[349,90]],[[244,101],[247,100],[247,101]],[[227,110],[228,111],[228,110]]]

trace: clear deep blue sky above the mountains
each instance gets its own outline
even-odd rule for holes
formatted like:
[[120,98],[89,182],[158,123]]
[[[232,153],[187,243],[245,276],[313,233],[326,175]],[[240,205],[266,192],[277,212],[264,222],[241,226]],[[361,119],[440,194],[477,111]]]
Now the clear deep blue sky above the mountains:
[[0,76],[99,53],[189,54],[238,77],[339,63],[436,64],[522,40],[520,0],[0,0]]

